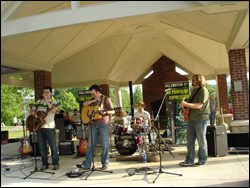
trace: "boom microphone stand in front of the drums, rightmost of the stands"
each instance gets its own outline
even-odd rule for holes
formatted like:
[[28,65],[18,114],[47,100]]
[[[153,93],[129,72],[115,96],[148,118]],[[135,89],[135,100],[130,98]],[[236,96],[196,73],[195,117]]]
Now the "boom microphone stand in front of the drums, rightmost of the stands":
[[[157,112],[156,118],[154,119],[154,120],[158,120],[158,132],[157,132],[157,134],[158,134],[158,139],[160,139],[160,120],[159,120],[159,114],[160,114],[160,111],[161,111],[161,108],[162,108],[162,105],[163,105],[163,102],[164,102],[166,96],[167,96],[167,90],[165,90],[165,95],[164,95],[164,97],[163,97],[163,99],[162,99],[162,102],[161,102],[161,105],[160,105],[159,110],[158,110],[158,112]],[[167,144],[166,144],[166,145],[167,145]],[[157,175],[156,178],[154,179],[153,183],[155,183],[156,179],[157,179],[157,178],[160,176],[160,174],[162,174],[162,173],[165,173],[165,174],[172,174],[172,175],[177,175],[177,176],[182,176],[182,174],[176,174],[176,173],[172,173],[172,172],[164,172],[164,171],[162,170],[162,157],[161,157],[161,152],[160,152],[160,151],[161,151],[160,142],[159,142],[159,148],[158,148],[158,150],[159,150],[159,156],[160,156],[160,167],[159,167],[159,171],[158,171],[158,172],[155,172],[155,173],[158,173],[158,175]],[[170,150],[169,150],[169,152],[171,153]]]

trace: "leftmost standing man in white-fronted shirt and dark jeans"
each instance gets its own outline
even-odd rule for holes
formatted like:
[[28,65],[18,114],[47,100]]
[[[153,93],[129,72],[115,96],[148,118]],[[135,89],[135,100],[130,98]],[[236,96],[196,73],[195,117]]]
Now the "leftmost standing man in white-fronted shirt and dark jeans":
[[42,156],[41,170],[47,170],[49,168],[47,142],[51,149],[53,170],[59,169],[55,129],[55,113],[58,109],[54,107],[54,105],[55,103],[52,101],[52,88],[45,86],[43,88],[42,98],[36,101],[36,104],[31,110],[31,114],[36,118],[39,118],[39,113],[46,113],[48,111],[47,116],[44,118],[45,123],[41,126],[41,129],[37,131],[38,146]]

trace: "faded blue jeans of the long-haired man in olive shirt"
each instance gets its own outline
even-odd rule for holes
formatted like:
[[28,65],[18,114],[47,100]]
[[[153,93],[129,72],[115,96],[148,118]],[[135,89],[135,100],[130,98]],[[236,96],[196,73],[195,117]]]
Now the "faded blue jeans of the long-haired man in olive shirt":
[[195,158],[195,140],[197,138],[199,150],[198,159],[201,163],[207,162],[207,131],[208,120],[189,122],[187,126],[187,155],[186,162],[193,164]]

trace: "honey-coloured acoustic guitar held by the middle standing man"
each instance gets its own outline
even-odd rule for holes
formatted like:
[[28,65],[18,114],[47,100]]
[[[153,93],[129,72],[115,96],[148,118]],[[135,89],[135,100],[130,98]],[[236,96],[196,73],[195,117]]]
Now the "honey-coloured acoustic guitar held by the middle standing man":
[[[102,110],[99,106],[83,106],[81,112],[82,122],[84,124],[89,123],[90,117],[93,115],[92,120],[98,120],[102,118],[102,115],[99,112],[108,112],[114,110],[116,113],[121,112],[121,107],[111,108],[108,110]],[[94,113],[95,112],[95,113]],[[94,113],[94,114],[93,114]]]

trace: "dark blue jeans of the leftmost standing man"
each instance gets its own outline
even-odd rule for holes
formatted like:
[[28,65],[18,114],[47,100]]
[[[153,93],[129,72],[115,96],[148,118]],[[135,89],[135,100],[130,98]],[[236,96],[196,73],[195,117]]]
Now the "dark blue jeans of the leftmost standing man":
[[59,164],[59,156],[56,146],[56,129],[41,128],[37,132],[39,151],[42,156],[43,165],[48,165],[47,141],[51,150],[52,164]]

